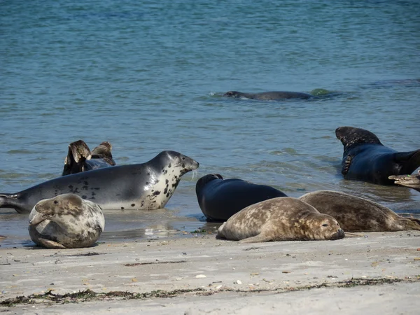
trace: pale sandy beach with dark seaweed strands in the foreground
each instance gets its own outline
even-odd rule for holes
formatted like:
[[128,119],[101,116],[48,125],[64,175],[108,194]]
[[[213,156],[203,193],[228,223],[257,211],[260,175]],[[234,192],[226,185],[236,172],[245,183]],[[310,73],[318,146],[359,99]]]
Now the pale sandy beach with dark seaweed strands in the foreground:
[[0,248],[5,314],[418,314],[420,232]]

